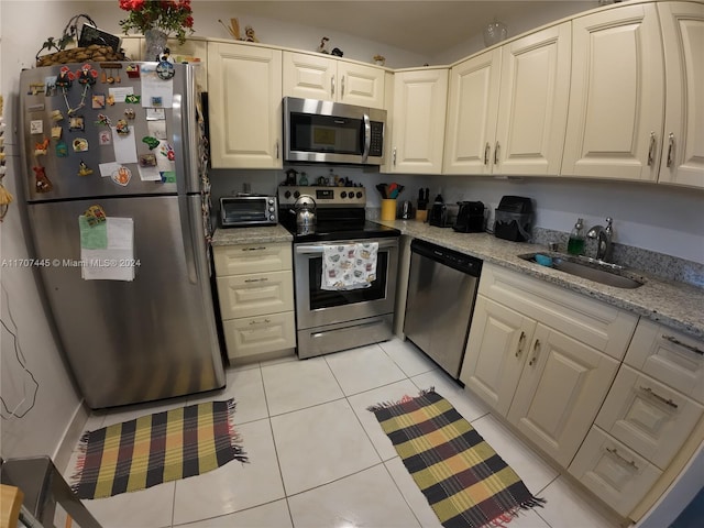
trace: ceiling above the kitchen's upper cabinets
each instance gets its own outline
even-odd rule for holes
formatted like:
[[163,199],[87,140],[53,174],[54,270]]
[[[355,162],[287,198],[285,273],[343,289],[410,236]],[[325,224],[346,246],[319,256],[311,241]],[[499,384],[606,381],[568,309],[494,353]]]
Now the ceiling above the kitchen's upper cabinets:
[[[544,13],[552,20],[597,7],[575,0],[326,0],[234,1],[239,14],[282,20],[433,55],[481,35],[494,19],[520,21]],[[558,9],[559,8],[559,9]],[[554,12],[553,16],[550,13]],[[535,26],[535,24],[534,24]],[[526,31],[528,28],[520,29]],[[516,34],[516,32],[512,32]]]

